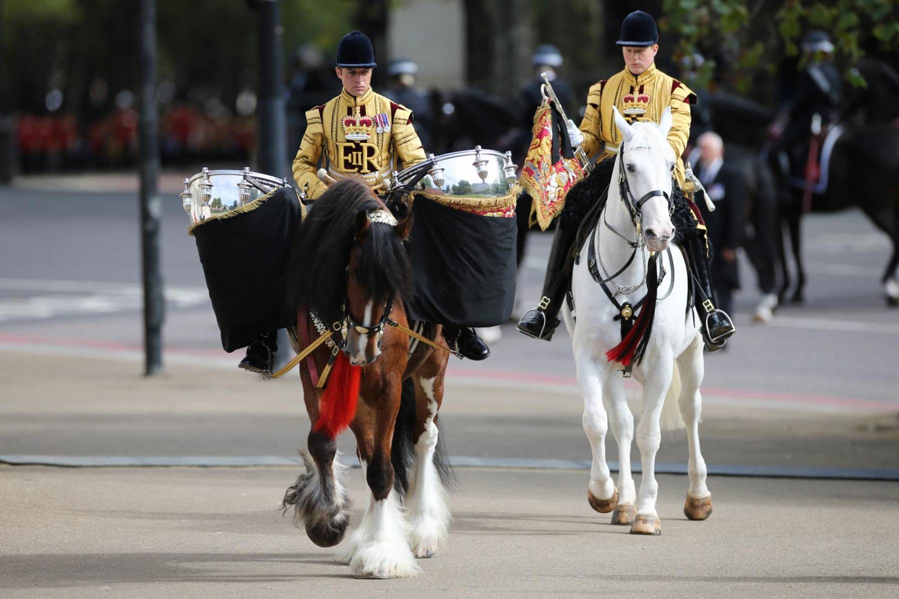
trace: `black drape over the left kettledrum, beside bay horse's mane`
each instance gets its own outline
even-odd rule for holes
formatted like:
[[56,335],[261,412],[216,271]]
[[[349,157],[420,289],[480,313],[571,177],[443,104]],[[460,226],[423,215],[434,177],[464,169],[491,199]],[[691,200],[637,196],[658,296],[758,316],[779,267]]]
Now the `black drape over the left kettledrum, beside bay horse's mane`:
[[304,208],[292,187],[191,227],[225,351],[296,324],[284,313],[284,270]]

